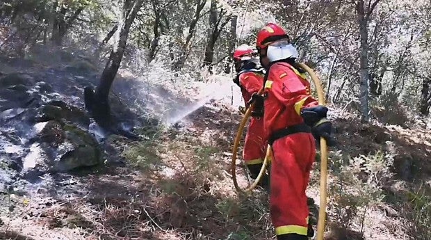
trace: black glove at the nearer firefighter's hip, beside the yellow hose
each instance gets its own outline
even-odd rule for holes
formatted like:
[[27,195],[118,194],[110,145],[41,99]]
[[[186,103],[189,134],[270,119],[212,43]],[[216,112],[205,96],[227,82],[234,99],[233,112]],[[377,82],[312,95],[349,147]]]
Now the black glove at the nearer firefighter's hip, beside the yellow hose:
[[301,116],[305,124],[311,127],[311,133],[316,140],[320,137],[325,138],[327,145],[334,146],[336,142],[331,136],[332,122],[327,120],[327,107],[315,106],[301,110]]

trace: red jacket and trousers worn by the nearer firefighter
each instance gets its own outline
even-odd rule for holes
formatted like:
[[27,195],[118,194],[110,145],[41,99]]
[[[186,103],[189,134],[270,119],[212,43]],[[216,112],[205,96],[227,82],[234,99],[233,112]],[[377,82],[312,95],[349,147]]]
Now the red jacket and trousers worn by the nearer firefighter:
[[[280,129],[304,126],[303,107],[317,106],[309,82],[288,63],[274,63],[265,83],[266,138]],[[292,127],[293,126],[293,127]],[[309,209],[305,190],[316,156],[314,137],[307,131],[278,136],[273,142],[270,175],[270,214],[277,235],[307,235]]]

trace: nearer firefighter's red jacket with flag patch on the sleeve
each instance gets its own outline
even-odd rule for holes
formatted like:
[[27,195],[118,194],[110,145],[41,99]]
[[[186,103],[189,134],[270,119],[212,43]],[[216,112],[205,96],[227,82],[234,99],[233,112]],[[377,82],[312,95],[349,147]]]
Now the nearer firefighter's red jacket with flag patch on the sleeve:
[[266,139],[274,131],[304,122],[300,110],[318,105],[307,79],[288,63],[273,64],[268,74],[263,116]]

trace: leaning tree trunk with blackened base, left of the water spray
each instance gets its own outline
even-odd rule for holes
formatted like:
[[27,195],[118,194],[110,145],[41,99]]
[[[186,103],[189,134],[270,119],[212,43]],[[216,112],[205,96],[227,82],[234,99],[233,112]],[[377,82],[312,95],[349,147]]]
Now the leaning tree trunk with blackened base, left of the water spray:
[[98,107],[92,110],[97,110],[102,115],[108,115],[110,111],[108,104],[109,91],[122,61],[131,24],[140,10],[143,0],[133,1],[133,5],[131,3],[131,0],[125,0],[123,3],[122,16],[115,36],[115,45],[109,55],[108,62],[100,77],[99,86],[97,86],[95,92],[94,100]]

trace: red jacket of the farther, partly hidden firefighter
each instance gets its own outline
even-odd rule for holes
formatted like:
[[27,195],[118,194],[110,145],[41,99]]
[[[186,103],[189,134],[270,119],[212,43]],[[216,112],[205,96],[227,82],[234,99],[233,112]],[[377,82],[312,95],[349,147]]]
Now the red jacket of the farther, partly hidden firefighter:
[[245,107],[248,108],[247,102],[252,98],[252,94],[259,92],[263,87],[263,75],[257,72],[244,72],[239,75],[239,83]]

